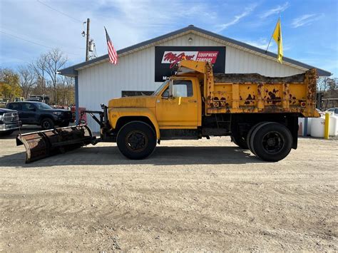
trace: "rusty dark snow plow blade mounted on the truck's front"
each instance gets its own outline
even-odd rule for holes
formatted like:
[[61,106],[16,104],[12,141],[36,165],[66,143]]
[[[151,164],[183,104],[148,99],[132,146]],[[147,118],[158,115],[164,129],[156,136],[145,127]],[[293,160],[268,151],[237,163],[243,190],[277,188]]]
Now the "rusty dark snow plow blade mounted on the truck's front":
[[43,130],[16,136],[16,145],[26,148],[26,163],[65,153],[93,143],[91,129],[87,125]]

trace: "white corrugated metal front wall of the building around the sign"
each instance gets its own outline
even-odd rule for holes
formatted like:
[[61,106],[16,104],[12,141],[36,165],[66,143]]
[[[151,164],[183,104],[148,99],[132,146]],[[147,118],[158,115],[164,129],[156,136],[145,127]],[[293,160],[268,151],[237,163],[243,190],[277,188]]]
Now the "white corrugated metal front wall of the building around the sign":
[[[193,38],[188,42],[188,38]],[[173,38],[156,46],[226,46],[225,73],[260,73],[264,76],[290,76],[304,71],[277,63],[268,58],[228,46],[195,33]],[[88,110],[101,110],[101,103],[121,97],[121,91],[154,91],[155,46],[119,58],[118,65],[108,62],[78,71],[79,106]],[[98,124],[88,118],[94,131]]]

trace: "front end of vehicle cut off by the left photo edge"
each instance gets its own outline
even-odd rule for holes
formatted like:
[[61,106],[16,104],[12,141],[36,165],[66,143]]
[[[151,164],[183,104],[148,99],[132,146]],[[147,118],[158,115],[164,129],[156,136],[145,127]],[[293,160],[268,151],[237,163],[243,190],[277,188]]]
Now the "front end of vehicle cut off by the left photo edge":
[[10,135],[20,128],[18,112],[0,108],[0,135]]

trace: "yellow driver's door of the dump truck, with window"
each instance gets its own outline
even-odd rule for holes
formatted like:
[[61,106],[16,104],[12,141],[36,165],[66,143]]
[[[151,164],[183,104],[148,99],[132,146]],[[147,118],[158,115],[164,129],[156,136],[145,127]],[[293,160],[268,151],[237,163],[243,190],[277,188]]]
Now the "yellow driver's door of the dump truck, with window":
[[198,83],[195,80],[174,80],[173,98],[169,88],[158,95],[156,118],[160,128],[198,127]]

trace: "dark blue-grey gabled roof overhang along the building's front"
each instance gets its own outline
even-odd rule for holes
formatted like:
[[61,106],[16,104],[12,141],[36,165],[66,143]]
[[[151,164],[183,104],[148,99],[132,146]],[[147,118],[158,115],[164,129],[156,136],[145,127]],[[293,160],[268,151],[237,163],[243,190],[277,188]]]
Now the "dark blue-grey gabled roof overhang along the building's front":
[[[272,53],[270,51],[265,51],[261,48],[251,46],[247,43],[243,43],[241,41],[236,41],[232,38],[228,38],[228,37],[222,36],[222,35],[217,34],[217,33],[212,33],[211,31],[200,29],[196,26],[191,26],[191,25],[187,26],[183,29],[179,29],[177,31],[167,33],[163,36],[158,36],[158,37],[152,38],[148,41],[143,41],[141,43],[137,43],[133,46],[128,46],[127,48],[123,48],[121,50],[118,50],[117,53],[118,53],[119,57],[122,57],[122,56],[125,56],[127,54],[134,53],[135,51],[140,51],[140,50],[143,50],[145,48],[149,48],[151,46],[156,46],[160,43],[163,43],[165,41],[169,41],[173,38],[184,36],[185,34],[188,34],[188,33],[195,33],[198,36],[202,36],[204,38],[208,38],[208,39],[216,41],[218,43],[222,43],[225,46],[232,46],[232,47],[238,48],[242,51],[247,51],[249,53],[253,53],[257,56],[269,58],[270,60],[275,60],[277,58],[276,53]],[[109,61],[108,54],[105,54],[105,55],[100,56],[98,58],[94,58],[90,61],[78,63],[78,64],[70,66],[68,68],[63,68],[63,69],[60,70],[60,74],[63,75],[63,76],[71,76],[71,77],[78,76],[78,71],[81,71],[83,68],[89,68],[91,66],[96,66],[96,65],[104,63],[106,61]],[[296,61],[292,58],[287,58],[287,57],[283,57],[283,64],[285,64],[287,66],[291,66],[293,68],[298,68],[299,70],[302,70],[302,71],[307,71],[310,68],[316,68],[314,66],[310,66],[306,63],[302,63],[300,61]],[[324,71],[321,68],[316,68],[316,69],[317,69],[318,76],[331,76],[332,75],[332,73],[330,73],[329,71]]]

